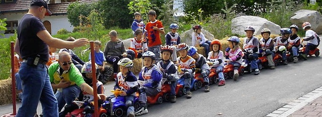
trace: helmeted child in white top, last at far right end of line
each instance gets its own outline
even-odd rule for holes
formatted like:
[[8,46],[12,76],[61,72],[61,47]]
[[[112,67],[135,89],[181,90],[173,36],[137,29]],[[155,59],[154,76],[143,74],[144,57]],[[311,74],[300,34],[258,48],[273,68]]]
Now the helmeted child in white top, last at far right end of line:
[[303,54],[303,57],[306,60],[308,52],[310,50],[314,50],[320,44],[320,39],[318,35],[313,30],[311,30],[310,23],[303,23],[302,28],[303,30],[305,30],[305,37],[303,38],[302,42],[307,41],[307,44],[305,45],[305,52]]

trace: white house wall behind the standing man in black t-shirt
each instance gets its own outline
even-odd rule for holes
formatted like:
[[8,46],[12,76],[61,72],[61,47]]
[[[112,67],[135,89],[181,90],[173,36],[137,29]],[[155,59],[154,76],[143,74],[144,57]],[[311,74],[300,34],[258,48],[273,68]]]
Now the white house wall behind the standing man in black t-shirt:
[[[6,18],[7,21],[18,21],[18,25],[22,17],[26,14],[25,13],[4,13],[0,15],[0,19]],[[51,34],[56,35],[59,29],[66,29],[67,31],[71,32],[73,30],[73,26],[68,22],[67,15],[60,15],[60,16],[46,16],[45,19],[42,20],[49,21],[51,24]],[[13,34],[5,34],[5,37],[0,38],[9,38]]]

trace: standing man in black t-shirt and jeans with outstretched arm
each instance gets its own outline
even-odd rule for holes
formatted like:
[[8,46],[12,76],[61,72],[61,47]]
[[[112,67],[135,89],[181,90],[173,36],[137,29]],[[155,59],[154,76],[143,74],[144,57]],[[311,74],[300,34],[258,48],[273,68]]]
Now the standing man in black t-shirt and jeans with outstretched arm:
[[23,62],[19,75],[23,83],[22,104],[17,117],[34,116],[40,100],[44,116],[58,116],[57,99],[52,90],[46,63],[48,45],[54,48],[80,47],[89,43],[87,39],[73,42],[51,37],[43,23],[45,16],[51,15],[44,0],[32,0],[29,11],[19,23],[15,52]]

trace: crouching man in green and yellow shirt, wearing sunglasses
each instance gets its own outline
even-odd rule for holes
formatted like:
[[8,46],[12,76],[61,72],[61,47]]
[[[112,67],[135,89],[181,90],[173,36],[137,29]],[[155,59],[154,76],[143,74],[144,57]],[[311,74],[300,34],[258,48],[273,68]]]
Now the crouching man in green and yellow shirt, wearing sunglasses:
[[[58,111],[61,111],[66,103],[72,104],[72,101],[81,93],[81,89],[94,95],[93,88],[84,81],[82,73],[72,64],[71,56],[67,52],[59,53],[57,62],[49,66],[48,75],[52,88],[57,89],[55,96],[58,101]],[[98,97],[106,99],[104,94],[99,94]]]

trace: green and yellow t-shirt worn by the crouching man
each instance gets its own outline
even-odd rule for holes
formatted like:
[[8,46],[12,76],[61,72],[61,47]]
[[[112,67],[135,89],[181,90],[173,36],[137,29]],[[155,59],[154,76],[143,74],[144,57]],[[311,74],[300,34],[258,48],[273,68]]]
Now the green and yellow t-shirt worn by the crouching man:
[[[50,78],[50,83],[58,84],[60,82],[60,75],[58,73],[60,65],[58,62],[52,63],[48,68],[48,75]],[[74,64],[70,64],[70,69],[66,73],[62,73],[61,77],[65,81],[70,81],[70,85],[76,84],[81,86],[82,83],[85,83],[82,73],[79,72],[78,68]]]

